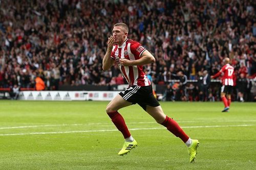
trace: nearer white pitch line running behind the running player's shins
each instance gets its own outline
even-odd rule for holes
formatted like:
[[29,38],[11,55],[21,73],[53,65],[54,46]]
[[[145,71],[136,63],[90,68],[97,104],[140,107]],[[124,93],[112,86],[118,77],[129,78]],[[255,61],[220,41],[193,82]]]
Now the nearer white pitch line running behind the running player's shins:
[[[181,128],[220,128],[220,127],[246,127],[255,125],[216,125],[216,126],[183,126]],[[137,130],[157,130],[165,128],[134,128],[129,129],[131,131]],[[59,133],[87,133],[87,132],[111,132],[118,131],[117,129],[110,130],[89,130],[89,131],[64,131],[64,132],[32,132],[32,133],[10,133],[10,134],[0,134],[0,136],[16,136],[16,135],[44,135],[44,134],[59,134]]]

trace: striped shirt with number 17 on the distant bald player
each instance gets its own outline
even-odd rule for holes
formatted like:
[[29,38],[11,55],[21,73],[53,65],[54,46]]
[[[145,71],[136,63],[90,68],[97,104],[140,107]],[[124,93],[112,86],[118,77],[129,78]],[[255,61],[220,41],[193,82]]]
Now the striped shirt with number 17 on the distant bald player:
[[234,68],[231,65],[226,64],[221,68],[221,70],[216,75],[214,75],[213,78],[217,78],[222,73],[224,73],[222,77],[222,85],[233,86],[234,85],[234,82],[233,82]]

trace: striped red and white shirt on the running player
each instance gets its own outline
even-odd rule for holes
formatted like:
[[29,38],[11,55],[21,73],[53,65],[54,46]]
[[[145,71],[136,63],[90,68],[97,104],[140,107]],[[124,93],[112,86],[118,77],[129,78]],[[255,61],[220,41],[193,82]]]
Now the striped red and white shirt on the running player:
[[117,44],[113,45],[111,58],[118,64],[122,76],[129,83],[129,86],[148,86],[151,85],[151,82],[143,72],[142,65],[122,66],[119,63],[119,59],[125,58],[127,60],[138,60],[145,50],[146,48],[144,48],[139,42],[128,38],[121,46]]

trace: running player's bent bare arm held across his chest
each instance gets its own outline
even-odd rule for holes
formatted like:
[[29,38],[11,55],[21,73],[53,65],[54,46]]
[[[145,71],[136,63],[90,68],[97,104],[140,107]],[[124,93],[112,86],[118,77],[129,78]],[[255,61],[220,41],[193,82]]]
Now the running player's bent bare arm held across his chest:
[[147,50],[142,52],[140,59],[138,60],[127,60],[127,59],[119,60],[119,62],[123,66],[145,65],[145,64],[154,63],[155,61],[156,61],[155,57]]

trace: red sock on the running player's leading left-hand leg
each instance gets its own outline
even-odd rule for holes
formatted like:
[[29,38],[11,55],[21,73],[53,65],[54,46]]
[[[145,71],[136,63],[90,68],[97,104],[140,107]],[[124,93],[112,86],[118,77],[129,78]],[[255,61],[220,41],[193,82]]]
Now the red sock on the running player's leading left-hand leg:
[[110,116],[112,122],[117,127],[117,129],[123,134],[124,138],[131,136],[127,126],[125,125],[124,119],[120,113],[118,113],[117,111],[113,111],[109,112],[108,115]]

